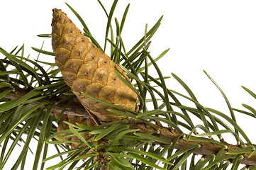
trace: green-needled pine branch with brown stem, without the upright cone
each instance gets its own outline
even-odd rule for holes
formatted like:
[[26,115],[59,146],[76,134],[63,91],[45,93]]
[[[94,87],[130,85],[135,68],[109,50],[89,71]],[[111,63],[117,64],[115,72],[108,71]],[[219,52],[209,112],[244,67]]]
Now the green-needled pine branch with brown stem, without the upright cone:
[[[13,150],[18,146],[22,150],[12,169],[18,169],[19,166],[25,169],[26,164],[31,164],[26,157],[28,152],[35,155],[33,169],[42,170],[50,159],[61,161],[46,169],[238,169],[240,164],[245,164],[242,169],[256,169],[255,145],[238,125],[234,114],[236,111],[256,118],[255,108],[246,104],[243,104],[246,111],[232,108],[224,92],[206,72],[225,98],[229,115],[202,106],[189,86],[176,74],[172,74],[172,77],[184,87],[188,96],[169,89],[168,84],[165,84],[165,79],[169,77],[163,77],[156,64],[169,49],[160,53],[159,57],[150,55],[150,39],[160,27],[162,16],[152,28],[146,26],[145,35],[127,50],[122,30],[128,24],[125,21],[130,4],[123,12],[121,24],[113,18],[114,10],[118,8],[117,0],[113,1],[109,13],[101,1],[99,4],[107,16],[103,48],[91,35],[77,11],[69,4],[67,6],[84,26],[84,35],[97,47],[106,50],[107,43],[110,44],[111,60],[119,64],[135,82],[135,87],[130,88],[139,96],[140,113],[113,106],[118,110],[108,111],[130,118],[101,122],[96,127],[64,122],[69,125],[69,129],[56,132],[56,123],[60,123],[62,115],[87,119],[90,116],[80,103],[73,101],[75,96],[60,77],[60,69],[57,69],[56,64],[40,61],[41,55],[50,57],[55,54],[43,50],[43,47],[33,47],[39,56],[31,60],[24,56],[24,45],[20,48],[16,46],[11,52],[0,48],[0,169],[7,166]],[[50,34],[38,36],[50,38]],[[148,69],[156,69],[158,77],[148,74]],[[242,87],[256,98],[254,92]],[[83,95],[103,102],[88,94]],[[194,103],[195,107],[184,106],[183,100],[179,101],[177,96]],[[149,105],[154,109],[149,110]],[[57,113],[59,117],[55,118],[52,113]],[[195,125],[194,117],[201,120],[201,124]],[[199,128],[204,132],[199,133]],[[84,138],[84,133],[89,136]],[[237,145],[225,142],[226,133],[234,136]],[[218,140],[214,140],[215,136]],[[79,140],[70,140],[72,137]],[[37,142],[35,150],[30,149],[33,139]],[[77,147],[71,148],[73,143]],[[11,146],[7,147],[9,144]],[[57,154],[48,155],[49,145],[55,145]],[[201,155],[201,158],[196,154]]]

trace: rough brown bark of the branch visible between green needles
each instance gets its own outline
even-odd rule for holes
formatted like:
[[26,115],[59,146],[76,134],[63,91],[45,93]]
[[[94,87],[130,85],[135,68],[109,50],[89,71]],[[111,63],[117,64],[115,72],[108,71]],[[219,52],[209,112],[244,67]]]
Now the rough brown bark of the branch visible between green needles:
[[[5,98],[8,98],[9,100],[13,100],[13,99],[18,99],[21,98],[22,96],[24,96],[27,91],[25,89],[21,89],[18,86],[14,86],[15,87],[15,91],[11,92],[10,94],[7,94],[5,96]],[[0,89],[0,92],[3,91],[4,88]],[[36,105],[40,102],[43,101],[47,101],[50,99],[41,99],[40,101],[34,101],[32,103],[30,103],[31,105]],[[67,103],[58,103],[56,104],[53,108],[52,108],[52,113],[61,113],[62,109],[66,106]],[[87,111],[85,111],[84,107],[82,106],[82,104],[77,103],[77,102],[72,102],[69,107],[66,109],[66,111],[64,112],[64,114],[66,115],[77,115],[77,116],[82,116],[84,118],[89,118],[89,114],[87,113]],[[165,128],[162,127],[161,125],[154,125],[155,128],[157,128],[157,130],[159,130],[158,134],[155,134],[155,136],[160,137],[164,140],[167,140],[168,142],[173,142],[177,137],[179,137],[180,133],[171,129],[171,128]],[[139,129],[139,132],[143,132],[143,133],[149,133],[152,132],[153,129],[149,126],[146,125],[145,123],[134,123],[132,125],[130,125],[130,129]],[[160,143],[157,142],[157,145],[162,145],[163,147],[165,147],[164,143]],[[224,145],[226,145],[228,147],[228,149],[226,149],[222,156],[226,155],[226,152],[230,152],[230,151],[238,151],[240,149],[242,149],[242,147],[238,147],[236,145],[230,145],[227,142],[223,142]],[[209,157],[212,154],[217,154],[218,151],[220,149],[222,149],[223,147],[218,145],[218,144],[214,144],[211,142],[192,142],[192,141],[187,141],[184,140],[183,137],[180,137],[179,140],[177,141],[177,145],[176,145],[176,149],[182,149],[184,147],[187,147],[189,145],[201,145],[201,147],[199,147],[198,149],[196,149],[194,151],[194,154],[200,154],[203,155],[204,157]],[[256,166],[256,154],[253,154],[252,157],[248,158],[249,154],[243,154],[244,158],[243,160],[240,162],[241,164],[246,164],[248,167],[250,166]],[[229,159],[230,162],[233,162],[234,159]]]

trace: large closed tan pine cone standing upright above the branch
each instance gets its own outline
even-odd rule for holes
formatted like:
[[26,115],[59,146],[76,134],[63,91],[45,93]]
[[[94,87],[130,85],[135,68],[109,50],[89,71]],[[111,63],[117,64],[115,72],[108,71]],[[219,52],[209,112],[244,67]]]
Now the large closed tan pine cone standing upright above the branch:
[[52,49],[63,79],[84,108],[103,121],[121,120],[125,116],[107,111],[109,106],[84,97],[81,92],[135,111],[137,94],[123,83],[113,70],[130,82],[117,64],[82,35],[66,13],[54,8],[52,18]]

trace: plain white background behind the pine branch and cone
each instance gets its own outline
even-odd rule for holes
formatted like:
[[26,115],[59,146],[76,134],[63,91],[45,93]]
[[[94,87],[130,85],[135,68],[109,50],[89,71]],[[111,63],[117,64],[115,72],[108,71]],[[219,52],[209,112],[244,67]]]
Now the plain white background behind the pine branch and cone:
[[[107,20],[98,2],[66,2],[82,16],[94,38],[103,46]],[[102,3],[110,11],[112,1],[104,0]],[[255,99],[241,88],[243,85],[256,93],[255,1],[120,0],[113,15],[118,18],[119,23],[128,3],[130,9],[122,33],[127,50],[142,38],[146,23],[149,30],[164,15],[162,25],[154,35],[155,38],[152,38],[149,49],[151,55],[157,57],[170,48],[167,55],[157,62],[164,76],[171,76],[172,72],[177,74],[194,92],[199,103],[230,115],[221,93],[206,77],[204,69],[221,86],[233,108],[243,109],[241,103],[256,108]],[[2,2],[0,47],[10,52],[16,45],[25,43],[26,55],[37,57],[37,53],[30,47],[40,48],[45,40],[43,49],[52,51],[50,38],[38,38],[36,35],[51,32],[52,8],[55,7],[65,11],[82,29],[64,1]],[[54,62],[53,57],[41,57],[45,57],[41,60]],[[167,81],[167,86],[186,94],[173,77]],[[240,113],[235,115],[238,125],[256,143],[253,132],[255,119]]]

